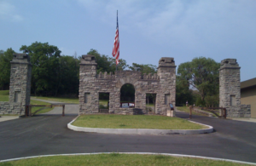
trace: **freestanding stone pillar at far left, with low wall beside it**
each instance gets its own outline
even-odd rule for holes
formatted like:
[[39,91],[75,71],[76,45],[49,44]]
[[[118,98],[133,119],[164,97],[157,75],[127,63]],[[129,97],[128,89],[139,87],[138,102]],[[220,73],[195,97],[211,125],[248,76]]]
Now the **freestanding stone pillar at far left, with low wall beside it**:
[[27,54],[14,54],[10,63],[9,105],[12,113],[24,115],[30,104],[32,65]]

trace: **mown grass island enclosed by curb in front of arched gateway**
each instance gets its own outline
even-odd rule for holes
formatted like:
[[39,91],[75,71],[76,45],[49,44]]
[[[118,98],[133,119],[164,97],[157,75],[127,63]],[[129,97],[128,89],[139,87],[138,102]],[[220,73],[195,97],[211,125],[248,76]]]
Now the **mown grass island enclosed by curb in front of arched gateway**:
[[107,129],[207,129],[178,117],[149,115],[82,115],[73,125]]

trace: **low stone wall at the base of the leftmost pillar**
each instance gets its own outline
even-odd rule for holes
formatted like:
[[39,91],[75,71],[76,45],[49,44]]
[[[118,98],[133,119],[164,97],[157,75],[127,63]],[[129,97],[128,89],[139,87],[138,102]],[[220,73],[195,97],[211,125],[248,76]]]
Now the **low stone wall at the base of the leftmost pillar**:
[[20,106],[20,103],[10,104],[8,101],[0,101],[0,115],[4,114],[19,114],[25,112],[25,106]]

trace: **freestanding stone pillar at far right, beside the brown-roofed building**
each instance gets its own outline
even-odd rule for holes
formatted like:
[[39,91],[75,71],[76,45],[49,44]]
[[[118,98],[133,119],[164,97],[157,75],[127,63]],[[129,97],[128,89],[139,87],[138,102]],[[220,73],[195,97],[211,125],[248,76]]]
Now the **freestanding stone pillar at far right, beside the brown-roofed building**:
[[219,69],[219,107],[227,110],[227,117],[241,117],[240,66],[236,59],[221,61]]

